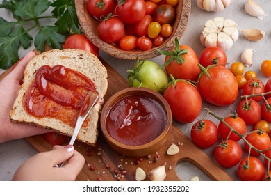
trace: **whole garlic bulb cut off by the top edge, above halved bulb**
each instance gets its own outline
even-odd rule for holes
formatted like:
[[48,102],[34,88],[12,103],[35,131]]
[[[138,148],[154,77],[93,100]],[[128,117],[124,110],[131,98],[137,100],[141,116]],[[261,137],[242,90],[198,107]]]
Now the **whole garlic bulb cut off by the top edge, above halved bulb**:
[[197,6],[208,12],[222,12],[233,0],[197,0]]

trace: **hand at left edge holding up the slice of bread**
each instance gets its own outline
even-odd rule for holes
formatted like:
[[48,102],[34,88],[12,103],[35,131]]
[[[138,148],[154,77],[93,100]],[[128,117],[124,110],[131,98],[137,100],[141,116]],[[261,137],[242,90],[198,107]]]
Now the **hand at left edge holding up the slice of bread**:
[[33,56],[35,56],[34,52],[28,52],[28,54],[17,63],[15,68],[0,81],[0,143],[50,132],[50,130],[45,130],[40,127],[22,123],[11,123],[9,118],[13,102],[18,95],[19,83],[24,78],[24,69]]

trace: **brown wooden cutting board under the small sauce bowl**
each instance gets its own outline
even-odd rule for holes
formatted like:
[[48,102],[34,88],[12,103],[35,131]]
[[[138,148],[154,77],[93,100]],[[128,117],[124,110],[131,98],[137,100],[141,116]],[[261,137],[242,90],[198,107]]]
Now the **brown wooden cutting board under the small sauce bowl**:
[[[108,70],[108,91],[104,97],[104,100],[108,100],[111,95],[123,88],[129,87],[127,81],[120,76],[108,63],[103,59],[100,59]],[[0,75],[0,80],[8,72],[3,72]],[[42,135],[28,137],[26,140],[39,152],[51,150],[52,146],[49,145]],[[179,146],[179,153],[176,155],[167,155],[167,148],[175,143]],[[67,143],[65,143],[67,144]],[[65,145],[63,144],[63,145]],[[149,154],[148,157],[141,157],[140,164],[136,162],[139,157],[126,157],[119,153],[116,153],[104,139],[99,130],[99,137],[95,146],[88,146],[85,143],[76,141],[74,147],[85,157],[85,166],[76,180],[136,180],[136,168],[140,166],[146,173],[157,166],[165,164],[165,171],[167,177],[165,180],[180,180],[176,175],[176,165],[179,162],[190,162],[204,171],[213,180],[233,180],[224,170],[220,169],[213,160],[204,153],[203,150],[197,148],[188,137],[186,137],[181,130],[175,125],[172,127],[172,132],[167,139],[163,148],[160,148],[156,153]],[[158,162],[154,159],[158,157]],[[108,166],[109,167],[108,167]],[[90,167],[93,166],[94,170]],[[122,168],[121,168],[122,167]],[[117,169],[117,174],[114,173],[114,169]],[[125,170],[124,177],[118,175],[121,173],[121,169]]]

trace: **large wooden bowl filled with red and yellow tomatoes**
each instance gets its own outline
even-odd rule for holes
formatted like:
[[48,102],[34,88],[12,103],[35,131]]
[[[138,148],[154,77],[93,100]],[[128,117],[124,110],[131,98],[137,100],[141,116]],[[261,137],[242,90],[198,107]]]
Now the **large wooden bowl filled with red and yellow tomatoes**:
[[[85,36],[118,59],[151,59],[174,46],[188,24],[190,0],[76,0]],[[102,10],[101,10],[102,8]],[[132,9],[133,8],[133,9]]]

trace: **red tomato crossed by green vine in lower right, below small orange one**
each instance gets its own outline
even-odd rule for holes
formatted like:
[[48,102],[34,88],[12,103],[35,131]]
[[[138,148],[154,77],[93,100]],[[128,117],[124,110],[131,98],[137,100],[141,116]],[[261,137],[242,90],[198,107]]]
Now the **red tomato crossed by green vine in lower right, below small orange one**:
[[[262,131],[254,131],[247,134],[245,137],[249,143],[252,144],[257,150],[267,150],[271,146],[270,137],[267,133]],[[249,150],[249,145],[245,143],[245,149]],[[252,148],[250,154],[254,157],[258,157],[260,154]]]

